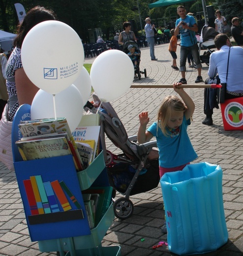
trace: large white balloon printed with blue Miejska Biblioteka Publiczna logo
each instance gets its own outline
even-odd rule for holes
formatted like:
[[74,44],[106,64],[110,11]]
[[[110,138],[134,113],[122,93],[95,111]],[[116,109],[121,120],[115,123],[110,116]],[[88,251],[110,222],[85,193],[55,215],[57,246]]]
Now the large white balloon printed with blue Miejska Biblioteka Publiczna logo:
[[44,21],[26,35],[21,59],[33,84],[57,94],[79,76],[84,64],[84,48],[71,27],[60,21]]

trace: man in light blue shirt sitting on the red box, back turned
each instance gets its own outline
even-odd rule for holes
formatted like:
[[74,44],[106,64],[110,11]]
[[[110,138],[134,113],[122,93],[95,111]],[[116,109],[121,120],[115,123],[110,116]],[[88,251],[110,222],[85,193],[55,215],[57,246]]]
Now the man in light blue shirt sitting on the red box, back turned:
[[[206,79],[205,83],[226,83],[226,70],[229,59],[225,99],[242,97],[243,48],[232,46],[229,37],[223,33],[215,36],[214,44],[217,51],[213,52],[210,56],[209,78]],[[213,125],[213,108],[218,108],[215,98],[215,89],[213,91],[210,88],[204,90],[204,114],[206,115],[202,122],[204,125]]]

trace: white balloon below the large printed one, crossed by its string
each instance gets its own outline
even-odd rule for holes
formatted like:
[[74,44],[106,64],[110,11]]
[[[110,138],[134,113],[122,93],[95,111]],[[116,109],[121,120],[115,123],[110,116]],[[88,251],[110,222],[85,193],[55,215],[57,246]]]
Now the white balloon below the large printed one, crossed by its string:
[[[71,131],[74,131],[82,119],[84,110],[83,99],[79,90],[71,85],[55,95],[55,106],[57,117],[65,117]],[[33,98],[30,116],[31,119],[54,118],[53,95],[39,90]]]

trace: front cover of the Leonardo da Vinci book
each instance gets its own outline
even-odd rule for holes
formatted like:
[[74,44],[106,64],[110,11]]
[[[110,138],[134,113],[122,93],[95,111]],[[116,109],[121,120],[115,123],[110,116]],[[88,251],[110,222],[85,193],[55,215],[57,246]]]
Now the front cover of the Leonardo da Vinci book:
[[23,160],[72,155],[66,137],[16,141]]

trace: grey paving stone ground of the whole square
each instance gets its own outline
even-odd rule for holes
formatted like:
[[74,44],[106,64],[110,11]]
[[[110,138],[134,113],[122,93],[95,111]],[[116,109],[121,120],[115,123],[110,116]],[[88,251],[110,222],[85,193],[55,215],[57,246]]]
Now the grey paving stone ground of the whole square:
[[[180,46],[178,46],[177,55],[179,65]],[[158,61],[151,61],[149,48],[141,49],[140,69],[146,68],[147,78],[142,75],[142,79],[135,79],[134,83],[172,84],[179,81],[180,71],[171,68],[172,57],[168,52],[168,44],[156,45],[155,56]],[[85,59],[85,63],[92,63],[94,59]],[[208,66],[203,64],[203,79],[207,78],[207,71]],[[188,68],[187,83],[194,84],[196,77],[197,70]],[[122,74],[117,79],[122,79]],[[188,127],[189,137],[198,154],[198,159],[193,163],[206,161],[219,164],[223,170],[223,200],[229,240],[217,251],[205,255],[243,255],[243,131],[225,131],[220,108],[214,111],[213,126],[202,125],[204,89],[187,88],[185,90],[196,105],[193,122]],[[111,103],[130,136],[137,133],[140,112],[149,111],[150,124],[152,124],[162,99],[174,94],[175,92],[170,88],[133,88]],[[107,149],[113,153],[119,153],[119,150],[109,141],[107,141]],[[119,197],[121,194],[117,193],[115,199]],[[122,221],[115,218],[102,244],[104,246],[120,245],[122,256],[173,255],[166,246],[152,249],[153,245],[167,239],[167,236],[162,235],[160,231],[165,215],[160,185],[152,191],[132,195],[130,199],[134,204],[133,215]],[[142,238],[144,238],[143,242]],[[48,256],[56,253],[41,253],[38,250],[38,243],[30,241],[15,174],[0,163],[0,256],[6,255]]]

